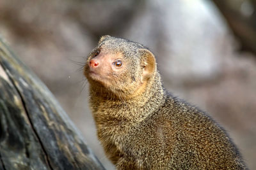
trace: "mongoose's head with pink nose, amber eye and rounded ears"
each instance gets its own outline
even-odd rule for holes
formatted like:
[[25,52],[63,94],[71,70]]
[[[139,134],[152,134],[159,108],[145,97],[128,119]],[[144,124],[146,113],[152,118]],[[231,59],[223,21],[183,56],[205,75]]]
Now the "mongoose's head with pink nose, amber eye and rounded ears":
[[152,52],[139,43],[111,36],[100,38],[84,66],[84,76],[93,87],[123,97],[143,92],[154,74]]

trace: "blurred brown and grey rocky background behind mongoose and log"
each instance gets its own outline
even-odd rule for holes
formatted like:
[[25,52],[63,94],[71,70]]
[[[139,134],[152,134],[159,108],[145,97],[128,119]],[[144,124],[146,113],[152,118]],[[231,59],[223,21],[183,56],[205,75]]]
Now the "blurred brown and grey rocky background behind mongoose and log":
[[0,34],[107,169],[81,71],[105,34],[148,46],[166,89],[223,125],[256,169],[255,8],[255,0],[1,0]]

